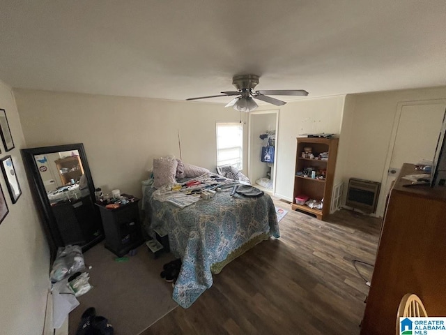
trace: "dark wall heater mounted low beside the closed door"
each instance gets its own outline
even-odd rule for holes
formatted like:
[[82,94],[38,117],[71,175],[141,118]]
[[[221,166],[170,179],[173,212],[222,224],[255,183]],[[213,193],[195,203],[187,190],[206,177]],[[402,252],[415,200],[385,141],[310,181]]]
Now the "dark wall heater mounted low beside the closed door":
[[381,183],[364,179],[348,180],[346,205],[371,214],[376,211]]

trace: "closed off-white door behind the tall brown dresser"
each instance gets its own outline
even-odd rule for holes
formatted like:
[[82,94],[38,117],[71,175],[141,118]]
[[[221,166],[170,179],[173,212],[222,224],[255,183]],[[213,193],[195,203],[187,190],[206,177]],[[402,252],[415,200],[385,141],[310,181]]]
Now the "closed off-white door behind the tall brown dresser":
[[[445,115],[446,103],[400,105],[394,125],[394,144],[387,154],[387,167],[383,176],[385,193],[381,193],[377,214],[383,216],[385,198],[403,163],[432,161],[438,134]],[[399,114],[399,115],[398,115]],[[388,163],[390,162],[390,163]]]

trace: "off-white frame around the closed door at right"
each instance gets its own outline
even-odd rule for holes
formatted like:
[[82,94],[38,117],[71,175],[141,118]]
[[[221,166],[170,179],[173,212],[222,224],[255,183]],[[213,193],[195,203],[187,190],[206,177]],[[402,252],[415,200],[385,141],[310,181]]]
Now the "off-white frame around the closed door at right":
[[[392,162],[392,155],[394,151],[395,141],[397,140],[397,133],[399,127],[399,121],[401,119],[401,112],[403,112],[403,107],[406,106],[416,106],[416,105],[446,105],[446,99],[432,99],[432,100],[420,100],[420,101],[403,101],[397,104],[397,111],[395,112],[395,117],[392,126],[392,133],[390,135],[389,147],[387,148],[387,156],[385,158],[385,165],[383,170],[383,176],[381,177],[381,191],[386,191],[388,172],[390,169],[390,163]],[[384,211],[384,202],[386,196],[380,196],[378,202],[378,208],[376,214],[382,213]],[[385,213],[383,213],[385,214]]]

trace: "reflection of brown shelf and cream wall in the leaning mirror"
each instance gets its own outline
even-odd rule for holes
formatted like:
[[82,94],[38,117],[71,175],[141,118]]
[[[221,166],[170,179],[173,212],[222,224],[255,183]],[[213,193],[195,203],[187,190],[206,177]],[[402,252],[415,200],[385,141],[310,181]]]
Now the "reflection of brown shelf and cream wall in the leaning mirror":
[[79,151],[34,155],[34,160],[52,206],[90,195]]

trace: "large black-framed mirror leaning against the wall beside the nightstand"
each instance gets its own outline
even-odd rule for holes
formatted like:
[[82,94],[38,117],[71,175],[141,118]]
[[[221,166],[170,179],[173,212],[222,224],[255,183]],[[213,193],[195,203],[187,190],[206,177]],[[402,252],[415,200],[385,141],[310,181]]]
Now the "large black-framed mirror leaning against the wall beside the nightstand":
[[86,251],[104,238],[82,143],[22,149],[52,254],[77,244]]

